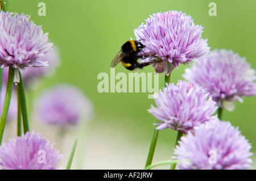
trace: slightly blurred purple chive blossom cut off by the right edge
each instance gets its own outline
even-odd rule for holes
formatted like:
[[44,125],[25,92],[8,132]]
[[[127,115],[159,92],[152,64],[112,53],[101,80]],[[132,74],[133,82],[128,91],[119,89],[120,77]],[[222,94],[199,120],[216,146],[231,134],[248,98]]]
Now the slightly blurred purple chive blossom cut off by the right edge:
[[[204,87],[218,106],[232,111],[234,100],[256,95],[255,70],[232,50],[213,50],[185,69],[183,77]],[[224,102],[223,102],[224,100]],[[223,104],[222,104],[222,103]]]

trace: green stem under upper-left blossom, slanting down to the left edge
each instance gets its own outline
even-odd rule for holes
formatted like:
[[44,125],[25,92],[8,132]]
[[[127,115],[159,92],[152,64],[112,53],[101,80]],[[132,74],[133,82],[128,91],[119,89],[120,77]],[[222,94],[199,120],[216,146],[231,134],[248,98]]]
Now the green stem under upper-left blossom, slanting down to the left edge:
[[0,118],[0,145],[2,143],[3,131],[5,130],[7,114],[8,114],[9,106],[10,106],[10,102],[11,102],[11,94],[13,92],[13,79],[14,79],[14,69],[10,67],[9,74],[8,74],[8,80],[7,80],[5,101],[3,102],[3,110],[2,110],[2,115]]

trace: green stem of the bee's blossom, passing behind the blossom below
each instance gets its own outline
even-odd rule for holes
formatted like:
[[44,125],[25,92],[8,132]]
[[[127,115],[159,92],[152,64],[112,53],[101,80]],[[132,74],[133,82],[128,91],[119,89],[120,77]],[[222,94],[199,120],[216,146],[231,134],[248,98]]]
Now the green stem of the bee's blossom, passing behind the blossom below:
[[[165,75],[164,77],[164,87],[166,87],[166,83],[169,83],[171,79],[171,74],[169,74],[168,76]],[[159,120],[156,120],[156,124],[160,123]],[[154,132],[152,135],[152,140],[151,140],[151,144],[150,144],[150,150],[148,151],[148,155],[147,155],[147,162],[146,162],[146,166],[150,166],[154,157],[154,153],[155,153],[155,146],[156,146],[156,141],[158,140],[158,134],[159,134],[159,130],[155,129],[156,126],[154,127]]]

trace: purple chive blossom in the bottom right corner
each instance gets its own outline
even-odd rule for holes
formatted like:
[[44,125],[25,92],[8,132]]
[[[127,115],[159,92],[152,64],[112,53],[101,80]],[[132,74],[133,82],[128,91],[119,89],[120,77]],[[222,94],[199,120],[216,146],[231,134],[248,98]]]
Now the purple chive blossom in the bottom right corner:
[[214,120],[181,137],[173,159],[184,160],[180,168],[203,170],[248,169],[251,145],[238,128]]

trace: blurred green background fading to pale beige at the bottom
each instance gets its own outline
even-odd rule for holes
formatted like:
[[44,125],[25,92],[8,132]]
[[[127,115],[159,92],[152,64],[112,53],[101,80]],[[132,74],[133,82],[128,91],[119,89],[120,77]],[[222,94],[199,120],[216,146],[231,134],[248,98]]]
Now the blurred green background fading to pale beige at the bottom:
[[[38,15],[38,3],[46,3],[46,16]],[[217,16],[209,16],[210,2],[217,5]],[[81,169],[143,169],[151,142],[155,117],[148,113],[154,99],[147,99],[148,93],[99,93],[97,85],[101,72],[110,73],[110,63],[121,45],[130,37],[135,39],[133,30],[150,15],[168,10],[183,11],[191,15],[195,24],[205,27],[203,39],[213,49],[233,49],[246,57],[251,67],[256,69],[256,1],[60,1],[60,0],[9,0],[10,12],[31,15],[31,20],[49,32],[49,39],[60,49],[61,65],[55,75],[44,78],[33,92],[33,98],[57,83],[67,82],[80,87],[92,100],[96,117],[83,130],[78,144],[86,143]],[[53,47],[54,48],[54,47]],[[187,66],[188,67],[188,66]],[[186,66],[180,65],[172,73],[171,82],[183,79]],[[154,72],[150,66],[142,71]],[[115,73],[128,70],[117,65]],[[164,75],[159,76],[159,88],[163,86]],[[31,92],[30,92],[31,93]],[[30,95],[28,95],[31,98]],[[224,120],[240,127],[243,135],[251,142],[256,151],[256,97],[244,98],[236,103],[233,112],[224,111]],[[32,108],[32,100],[28,101]],[[10,125],[9,130],[15,129]],[[58,145],[53,128],[33,123],[31,130],[46,135],[56,142],[56,147],[64,154],[60,165],[66,165],[70,145],[77,129],[64,136],[62,146]],[[12,136],[14,133],[5,134]],[[160,131],[153,162],[170,159],[174,148],[176,132],[171,129]],[[64,145],[64,146],[63,146]],[[59,146],[59,147],[58,147]],[[252,157],[254,159],[254,157]],[[256,159],[254,159],[256,162]],[[254,164],[253,168],[256,168]],[[76,163],[72,165],[77,169]],[[168,169],[168,166],[158,167]]]

